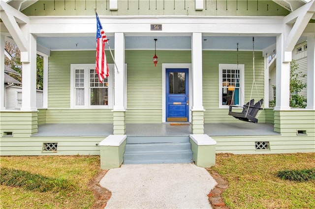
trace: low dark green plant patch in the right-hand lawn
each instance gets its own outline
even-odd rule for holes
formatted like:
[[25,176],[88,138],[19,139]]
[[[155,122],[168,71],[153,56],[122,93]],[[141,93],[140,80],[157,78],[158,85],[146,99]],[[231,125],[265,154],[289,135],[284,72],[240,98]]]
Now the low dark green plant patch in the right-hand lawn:
[[302,170],[284,170],[278,171],[277,177],[290,181],[305,182],[315,180],[315,168]]

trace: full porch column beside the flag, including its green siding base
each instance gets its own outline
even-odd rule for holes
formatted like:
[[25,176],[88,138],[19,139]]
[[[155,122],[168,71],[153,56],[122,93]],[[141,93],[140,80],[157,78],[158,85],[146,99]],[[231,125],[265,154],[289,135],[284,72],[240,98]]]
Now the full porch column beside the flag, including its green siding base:
[[[114,134],[126,133],[125,35],[115,33],[115,101],[113,108]],[[118,71],[119,72],[118,72]]]

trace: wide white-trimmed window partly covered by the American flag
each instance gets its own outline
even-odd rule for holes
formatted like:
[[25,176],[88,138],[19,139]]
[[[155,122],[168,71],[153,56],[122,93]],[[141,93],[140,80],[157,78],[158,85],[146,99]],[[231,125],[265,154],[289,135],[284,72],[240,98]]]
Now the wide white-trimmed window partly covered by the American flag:
[[112,108],[114,65],[108,64],[109,77],[99,82],[95,64],[71,64],[71,108]]

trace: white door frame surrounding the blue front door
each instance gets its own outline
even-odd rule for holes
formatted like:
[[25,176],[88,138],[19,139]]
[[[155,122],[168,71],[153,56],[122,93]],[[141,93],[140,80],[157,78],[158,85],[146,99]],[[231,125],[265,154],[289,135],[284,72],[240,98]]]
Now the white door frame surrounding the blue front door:
[[162,123],[166,122],[166,68],[187,68],[189,84],[189,117],[191,122],[191,104],[192,104],[192,85],[191,85],[191,63],[162,63]]

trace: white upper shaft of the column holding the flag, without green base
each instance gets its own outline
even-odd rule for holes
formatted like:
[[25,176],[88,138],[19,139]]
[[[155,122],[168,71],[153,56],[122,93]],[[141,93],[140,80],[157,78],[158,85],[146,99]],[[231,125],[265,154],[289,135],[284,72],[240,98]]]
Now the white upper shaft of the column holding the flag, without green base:
[[125,98],[125,36],[124,33],[115,33],[115,103],[114,111],[126,110]]

